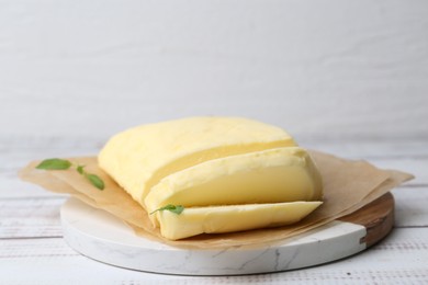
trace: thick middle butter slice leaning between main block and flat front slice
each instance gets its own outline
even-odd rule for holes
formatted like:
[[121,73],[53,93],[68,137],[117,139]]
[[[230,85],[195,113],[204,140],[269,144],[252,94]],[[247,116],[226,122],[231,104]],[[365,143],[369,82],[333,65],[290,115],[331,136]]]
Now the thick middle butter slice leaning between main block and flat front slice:
[[200,207],[322,196],[319,173],[311,157],[303,148],[289,147],[219,158],[178,171],[155,185],[145,204],[151,213],[168,204]]

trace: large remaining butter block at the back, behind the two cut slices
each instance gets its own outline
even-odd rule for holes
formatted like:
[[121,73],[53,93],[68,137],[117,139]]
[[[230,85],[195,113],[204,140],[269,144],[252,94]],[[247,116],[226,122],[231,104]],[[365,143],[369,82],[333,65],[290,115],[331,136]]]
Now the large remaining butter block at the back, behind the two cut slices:
[[99,166],[143,207],[161,179],[195,164],[295,146],[283,129],[240,117],[190,117],[131,128],[112,137]]

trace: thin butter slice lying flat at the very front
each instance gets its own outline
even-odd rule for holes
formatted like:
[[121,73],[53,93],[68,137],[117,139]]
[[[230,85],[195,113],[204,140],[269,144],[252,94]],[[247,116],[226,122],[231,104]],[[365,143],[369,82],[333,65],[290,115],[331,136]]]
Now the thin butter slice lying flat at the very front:
[[279,227],[300,221],[322,202],[290,202],[184,208],[180,214],[157,212],[160,233],[170,240],[201,233]]

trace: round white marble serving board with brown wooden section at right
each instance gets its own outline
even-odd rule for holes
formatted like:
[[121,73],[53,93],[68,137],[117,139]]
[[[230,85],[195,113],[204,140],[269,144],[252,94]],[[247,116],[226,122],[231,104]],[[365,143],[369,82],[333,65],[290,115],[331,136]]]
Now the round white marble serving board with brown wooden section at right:
[[138,236],[111,214],[70,198],[61,207],[66,242],[81,254],[131,270],[179,275],[280,272],[342,259],[374,244],[392,229],[387,193],[360,210],[263,248],[179,249]]

